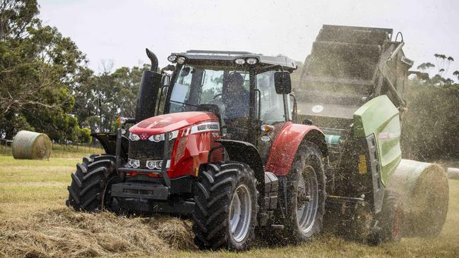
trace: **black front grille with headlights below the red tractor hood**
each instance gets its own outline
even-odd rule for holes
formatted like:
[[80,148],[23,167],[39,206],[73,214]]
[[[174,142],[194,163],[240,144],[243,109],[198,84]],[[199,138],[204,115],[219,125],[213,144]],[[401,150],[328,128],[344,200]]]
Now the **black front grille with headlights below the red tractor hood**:
[[[170,159],[174,143],[175,139],[169,141],[169,155],[167,159]],[[129,159],[138,159],[141,163],[139,168],[147,168],[146,164],[148,160],[162,160],[163,152],[164,141],[129,141]]]

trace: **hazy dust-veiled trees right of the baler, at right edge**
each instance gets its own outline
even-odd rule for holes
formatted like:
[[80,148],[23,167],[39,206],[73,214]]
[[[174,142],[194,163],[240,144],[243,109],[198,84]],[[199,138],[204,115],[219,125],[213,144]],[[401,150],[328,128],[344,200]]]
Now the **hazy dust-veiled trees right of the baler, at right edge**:
[[401,145],[407,159],[431,161],[459,158],[459,71],[446,78],[453,57],[434,54],[436,65],[417,69],[434,74],[428,80],[407,82],[407,112],[403,117]]

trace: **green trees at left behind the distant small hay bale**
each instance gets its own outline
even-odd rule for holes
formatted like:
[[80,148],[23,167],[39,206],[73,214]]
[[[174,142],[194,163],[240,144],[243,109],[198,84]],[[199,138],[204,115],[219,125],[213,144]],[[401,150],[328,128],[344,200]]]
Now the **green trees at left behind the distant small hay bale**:
[[45,132],[56,142],[89,142],[133,116],[147,66],[95,74],[76,44],[42,24],[36,0],[0,0],[0,137]]

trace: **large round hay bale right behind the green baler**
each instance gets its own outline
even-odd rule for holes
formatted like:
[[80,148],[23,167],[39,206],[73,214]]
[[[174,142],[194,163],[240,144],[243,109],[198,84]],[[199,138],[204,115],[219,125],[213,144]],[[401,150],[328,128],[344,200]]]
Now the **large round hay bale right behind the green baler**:
[[448,213],[448,178],[441,166],[402,159],[388,183],[403,200],[403,236],[439,235]]

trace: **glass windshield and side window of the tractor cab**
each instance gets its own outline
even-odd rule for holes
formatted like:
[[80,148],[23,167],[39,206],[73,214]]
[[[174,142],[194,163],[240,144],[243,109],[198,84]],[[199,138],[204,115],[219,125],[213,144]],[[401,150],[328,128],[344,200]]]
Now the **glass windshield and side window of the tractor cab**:
[[[290,119],[285,117],[284,96],[275,92],[274,73],[274,70],[258,73],[254,80],[256,119],[270,125]],[[169,113],[205,111],[208,109],[205,104],[213,104],[225,122],[240,123],[240,118],[249,117],[249,77],[248,70],[184,65],[175,77]],[[287,108],[291,109],[290,103]]]

